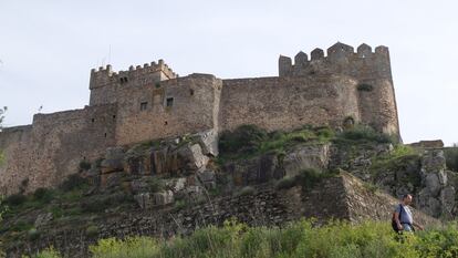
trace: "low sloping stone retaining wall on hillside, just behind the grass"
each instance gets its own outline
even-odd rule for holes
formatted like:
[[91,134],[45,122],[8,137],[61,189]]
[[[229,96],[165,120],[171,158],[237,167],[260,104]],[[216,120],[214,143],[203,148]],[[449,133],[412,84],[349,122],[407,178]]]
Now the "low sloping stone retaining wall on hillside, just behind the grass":
[[[148,207],[147,210],[105,214],[92,219],[93,227],[97,228],[95,236],[89,236],[86,228],[77,224],[71,228],[48,225],[42,229],[45,236],[11,248],[8,252],[9,257],[20,257],[21,254],[53,246],[65,257],[87,257],[87,246],[97,238],[138,235],[168,238],[191,234],[202,226],[220,226],[233,218],[250,226],[279,226],[303,217],[319,218],[319,223],[341,218],[353,223],[375,219],[388,224],[396,204],[395,198],[378,190],[373,192],[358,178],[341,173],[323,179],[311,189],[296,186],[275,190],[264,185],[256,187],[249,195],[208,198],[202,204],[188,205],[181,209]],[[414,218],[424,226],[439,223],[414,208],[413,213]]]

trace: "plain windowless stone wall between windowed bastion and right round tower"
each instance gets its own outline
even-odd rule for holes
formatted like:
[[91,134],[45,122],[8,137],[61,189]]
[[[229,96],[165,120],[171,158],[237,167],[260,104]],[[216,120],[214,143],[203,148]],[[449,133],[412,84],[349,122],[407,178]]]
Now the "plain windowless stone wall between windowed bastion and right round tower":
[[356,82],[348,76],[225,80],[220,128],[256,124],[269,131],[360,121]]

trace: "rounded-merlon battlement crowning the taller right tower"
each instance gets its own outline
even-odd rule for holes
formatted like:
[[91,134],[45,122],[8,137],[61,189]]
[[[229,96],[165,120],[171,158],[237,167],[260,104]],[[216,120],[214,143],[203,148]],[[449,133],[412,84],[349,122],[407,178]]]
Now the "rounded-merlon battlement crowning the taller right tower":
[[325,51],[314,49],[309,55],[300,51],[291,58],[280,55],[280,76],[304,76],[311,74],[347,74],[364,78],[367,73],[381,78],[391,78],[388,48],[379,45],[372,51],[365,43],[356,51],[353,47],[337,42]]

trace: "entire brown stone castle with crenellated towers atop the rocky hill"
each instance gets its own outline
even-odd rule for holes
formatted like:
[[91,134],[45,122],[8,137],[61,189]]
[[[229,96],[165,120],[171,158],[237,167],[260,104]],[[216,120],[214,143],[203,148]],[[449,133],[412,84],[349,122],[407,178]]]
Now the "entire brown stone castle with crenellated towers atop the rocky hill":
[[0,192],[59,184],[81,161],[107,147],[242,124],[269,131],[304,124],[364,123],[399,136],[389,53],[337,42],[280,56],[279,76],[221,80],[210,74],[178,76],[163,60],[128,71],[111,65],[91,71],[90,105],[35,114],[31,125],[0,133]]

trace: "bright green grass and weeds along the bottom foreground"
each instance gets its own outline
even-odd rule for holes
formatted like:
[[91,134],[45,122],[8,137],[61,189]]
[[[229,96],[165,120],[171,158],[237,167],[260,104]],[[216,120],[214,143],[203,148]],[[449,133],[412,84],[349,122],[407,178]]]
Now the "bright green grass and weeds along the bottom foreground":
[[[427,258],[458,256],[456,223],[414,234],[396,235],[389,221],[352,225],[331,221],[316,227],[301,220],[279,227],[248,227],[226,221],[223,227],[197,229],[188,237],[101,239],[90,247],[96,258]],[[46,250],[49,251],[49,250]],[[55,255],[55,254],[53,254]],[[39,256],[55,257],[55,256]]]

